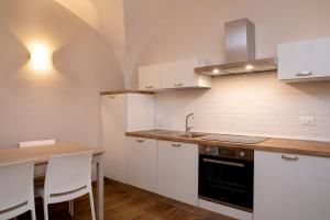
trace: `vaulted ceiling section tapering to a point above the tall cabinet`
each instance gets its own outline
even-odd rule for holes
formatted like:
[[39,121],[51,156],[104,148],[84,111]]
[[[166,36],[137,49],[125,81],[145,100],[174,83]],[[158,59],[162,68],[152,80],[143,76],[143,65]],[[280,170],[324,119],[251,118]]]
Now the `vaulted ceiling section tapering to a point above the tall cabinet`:
[[127,85],[135,62],[174,0],[55,0],[95,29],[114,51]]

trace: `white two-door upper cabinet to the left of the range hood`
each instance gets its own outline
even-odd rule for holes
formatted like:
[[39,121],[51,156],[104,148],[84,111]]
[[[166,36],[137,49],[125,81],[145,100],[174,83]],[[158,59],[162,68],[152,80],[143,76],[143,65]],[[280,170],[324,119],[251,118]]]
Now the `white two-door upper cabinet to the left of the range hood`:
[[176,88],[210,88],[210,76],[195,73],[197,58],[164,63],[139,68],[139,88],[143,90]]

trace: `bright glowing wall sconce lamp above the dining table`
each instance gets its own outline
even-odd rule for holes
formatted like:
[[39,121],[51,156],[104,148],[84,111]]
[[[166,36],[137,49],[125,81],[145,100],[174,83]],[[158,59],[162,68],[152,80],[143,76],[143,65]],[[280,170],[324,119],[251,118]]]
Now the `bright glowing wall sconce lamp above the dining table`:
[[34,43],[30,46],[30,66],[37,72],[45,72],[52,67],[52,52],[43,43]]

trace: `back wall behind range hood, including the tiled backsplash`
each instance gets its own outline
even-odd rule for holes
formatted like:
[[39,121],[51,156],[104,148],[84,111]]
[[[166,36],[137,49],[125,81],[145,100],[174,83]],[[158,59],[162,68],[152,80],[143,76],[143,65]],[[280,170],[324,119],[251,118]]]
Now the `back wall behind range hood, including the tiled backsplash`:
[[[139,66],[188,57],[224,62],[223,24],[249,18],[256,56],[271,57],[283,42],[330,35],[328,0],[182,0],[140,56]],[[308,14],[308,15],[306,15]],[[136,87],[136,73],[135,84]],[[195,112],[195,130],[330,141],[330,82],[285,84],[275,73],[218,77],[210,90],[161,92],[158,129],[183,130]],[[301,116],[315,117],[301,127]]]

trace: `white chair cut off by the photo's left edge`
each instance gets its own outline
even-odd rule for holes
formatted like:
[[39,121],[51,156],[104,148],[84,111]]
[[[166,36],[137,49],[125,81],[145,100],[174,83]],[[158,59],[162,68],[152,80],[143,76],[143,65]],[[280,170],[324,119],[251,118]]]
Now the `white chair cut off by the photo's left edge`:
[[33,170],[33,160],[0,165],[0,220],[26,211],[35,220]]

